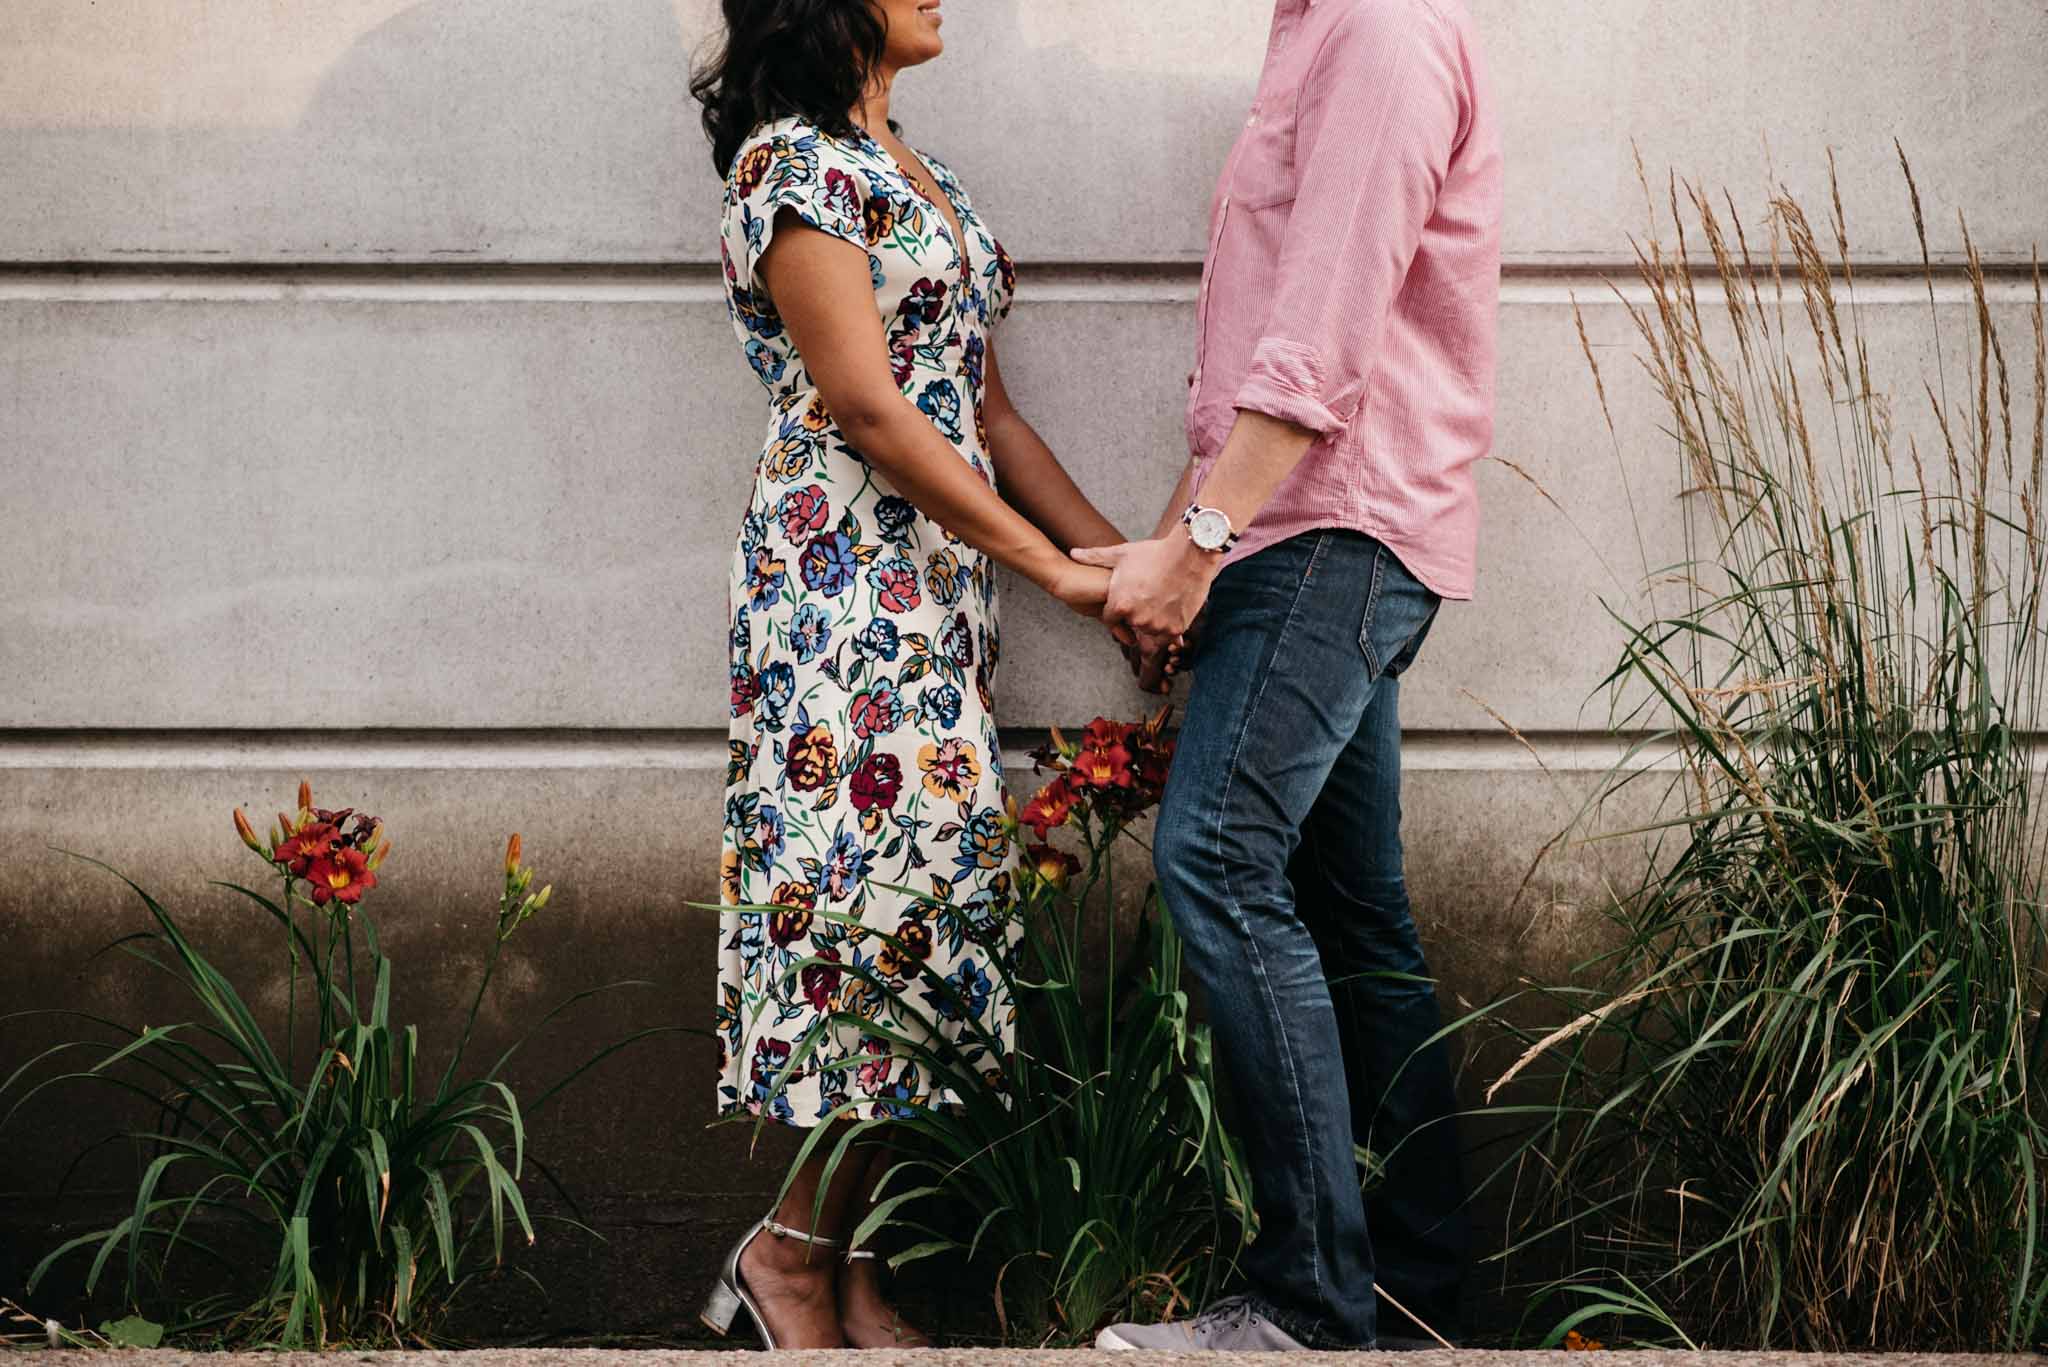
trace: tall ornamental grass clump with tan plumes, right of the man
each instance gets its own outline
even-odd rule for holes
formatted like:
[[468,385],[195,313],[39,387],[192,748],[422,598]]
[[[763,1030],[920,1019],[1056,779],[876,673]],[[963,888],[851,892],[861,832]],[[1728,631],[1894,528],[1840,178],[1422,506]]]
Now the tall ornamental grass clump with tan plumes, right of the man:
[[1821,223],[1776,193],[1753,240],[1673,182],[1675,246],[1636,246],[1690,543],[1612,609],[1612,726],[1638,740],[1599,797],[1661,785],[1649,871],[1501,1078],[1552,1096],[1507,1250],[1565,1258],[1552,1340],[2048,1330],[2040,264],[2001,291],[1958,219],[1944,287],[1898,160],[1931,353],[1907,389],[1872,373],[1839,191]]

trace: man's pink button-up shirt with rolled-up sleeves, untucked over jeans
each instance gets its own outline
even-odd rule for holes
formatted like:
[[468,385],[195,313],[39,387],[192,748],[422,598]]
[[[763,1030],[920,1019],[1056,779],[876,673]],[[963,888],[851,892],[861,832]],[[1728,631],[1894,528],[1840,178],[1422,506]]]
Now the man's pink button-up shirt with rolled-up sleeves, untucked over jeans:
[[1317,441],[1231,560],[1350,527],[1473,596],[1499,225],[1499,127],[1460,0],[1278,0],[1210,209],[1196,488],[1239,408]]

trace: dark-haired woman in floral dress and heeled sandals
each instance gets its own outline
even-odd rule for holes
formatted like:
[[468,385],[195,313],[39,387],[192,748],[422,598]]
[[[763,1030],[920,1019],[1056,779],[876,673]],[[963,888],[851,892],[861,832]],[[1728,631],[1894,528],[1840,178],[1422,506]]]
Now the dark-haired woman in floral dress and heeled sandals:
[[[918,1037],[940,1014],[926,969],[1010,1039],[989,963],[1014,875],[993,570],[1094,617],[1110,576],[1065,551],[1122,541],[1004,391],[1010,258],[889,121],[940,25],[938,0],[725,0],[725,47],[692,84],[725,172],[733,330],[772,396],[731,562],[723,898],[780,910],[721,916],[721,1115],[817,1125],[946,1101],[911,1058],[823,1019]],[[731,1250],[705,1320],[725,1332],[743,1306],[770,1347],[922,1342],[872,1254],[813,1252],[844,1248],[872,1152],[842,1162],[813,1228],[821,1166]]]

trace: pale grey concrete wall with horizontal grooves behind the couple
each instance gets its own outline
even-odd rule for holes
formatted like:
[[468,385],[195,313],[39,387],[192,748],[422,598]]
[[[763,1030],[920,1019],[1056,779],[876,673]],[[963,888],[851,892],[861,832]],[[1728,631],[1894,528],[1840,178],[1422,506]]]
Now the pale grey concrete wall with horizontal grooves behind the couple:
[[[2001,309],[2048,221],[2034,0],[1475,0],[1505,109],[1499,455],[1479,600],[1405,689],[1409,853],[1452,992],[1556,971],[1593,869],[1511,906],[1614,754],[1589,691],[1634,521],[1675,557],[1675,473],[1602,283],[1645,221],[1630,158],[1819,207],[1825,148],[1866,271],[1917,260],[1915,156],[1962,320],[1968,209]],[[254,971],[227,812],[381,812],[401,1006],[446,1037],[508,830],[557,883],[494,1035],[614,974],[655,980],[578,1039],[707,1021],[723,771],[723,564],[760,389],[715,271],[717,180],[686,94],[702,0],[10,0],[0,6],[0,1004],[184,1004],[92,949],[139,924],[113,861]],[[1124,527],[1182,457],[1202,213],[1249,100],[1262,0],[963,0],[905,76],[911,141],[1022,262],[1001,332],[1026,412]],[[1610,449],[1571,301],[1608,357]],[[1917,393],[1925,301],[1870,279]],[[1628,486],[1640,504],[1630,514]],[[1655,557],[1655,555],[1653,555]],[[1610,572],[1612,570],[1612,572]],[[1081,623],[1008,596],[1006,721],[1135,713]],[[1509,717],[1534,756],[1477,699]],[[1548,773],[1538,767],[1536,756]],[[266,992],[281,980],[266,980]],[[55,1039],[0,1025],[0,1074]],[[543,1055],[567,1062],[569,1043]],[[705,1131],[711,1051],[647,1045],[539,1144],[610,1246],[543,1248],[524,1322],[686,1322],[772,1185]],[[0,1133],[0,1293],[121,1162],[49,1191],[72,1105]],[[518,1324],[510,1320],[508,1324]]]

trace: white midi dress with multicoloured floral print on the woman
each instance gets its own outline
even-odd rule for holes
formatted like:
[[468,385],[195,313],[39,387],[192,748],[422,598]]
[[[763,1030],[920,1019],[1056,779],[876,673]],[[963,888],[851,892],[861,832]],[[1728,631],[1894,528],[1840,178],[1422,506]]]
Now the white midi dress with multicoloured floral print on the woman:
[[[956,1039],[985,1072],[999,1053],[967,1021],[1001,1049],[1012,1039],[991,961],[1014,945],[1016,871],[993,719],[993,566],[846,443],[756,277],[780,209],[862,246],[903,396],[993,488],[983,357],[1014,268],[958,178],[920,160],[965,242],[860,129],[764,123],[725,182],[725,293],[770,406],[729,584],[721,1115],[766,1105],[815,1125],[848,1101],[903,1115],[948,1099],[907,1051],[831,1012],[911,1041]],[[774,910],[733,910],[754,906]]]

